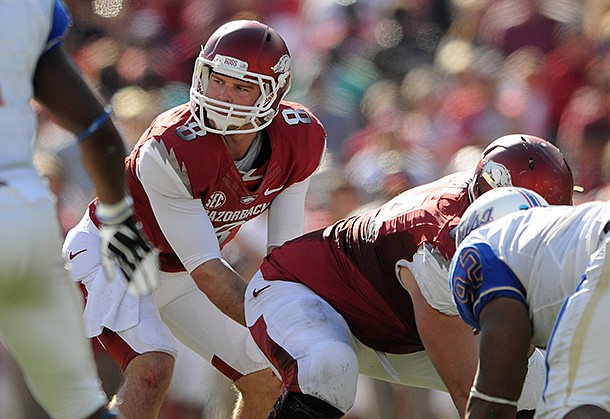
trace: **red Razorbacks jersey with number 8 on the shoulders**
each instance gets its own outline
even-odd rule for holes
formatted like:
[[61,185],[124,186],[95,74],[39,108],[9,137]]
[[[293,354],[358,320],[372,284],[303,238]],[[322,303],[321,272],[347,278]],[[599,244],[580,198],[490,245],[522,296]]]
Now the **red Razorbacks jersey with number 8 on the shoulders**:
[[282,102],[278,115],[262,132],[254,167],[240,173],[222,137],[202,130],[193,120],[188,103],[155,118],[127,157],[126,169],[134,211],[161,251],[161,269],[176,272],[185,268],[163,235],[138,179],[143,147],[154,147],[166,160],[165,166],[173,169],[172,176],[193,199],[201,201],[222,247],[246,221],[267,210],[281,191],[307,179],[317,169],[325,138],[323,126],[307,108]]

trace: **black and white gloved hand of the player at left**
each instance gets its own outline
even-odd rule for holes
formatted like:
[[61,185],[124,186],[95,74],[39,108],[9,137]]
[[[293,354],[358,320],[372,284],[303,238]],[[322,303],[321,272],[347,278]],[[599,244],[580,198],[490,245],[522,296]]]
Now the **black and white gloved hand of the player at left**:
[[96,215],[102,222],[102,266],[106,277],[114,277],[116,263],[130,294],[149,294],[159,283],[159,252],[148,242],[133,215],[131,199],[114,205],[98,202]]

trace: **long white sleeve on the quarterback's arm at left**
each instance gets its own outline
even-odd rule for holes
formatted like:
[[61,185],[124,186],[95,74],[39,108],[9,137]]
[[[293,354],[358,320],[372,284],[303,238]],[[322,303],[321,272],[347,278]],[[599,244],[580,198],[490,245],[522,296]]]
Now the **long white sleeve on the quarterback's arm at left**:
[[154,143],[159,145],[151,140],[142,147],[138,178],[163,235],[190,273],[204,262],[220,258],[220,246],[201,200],[193,198]]

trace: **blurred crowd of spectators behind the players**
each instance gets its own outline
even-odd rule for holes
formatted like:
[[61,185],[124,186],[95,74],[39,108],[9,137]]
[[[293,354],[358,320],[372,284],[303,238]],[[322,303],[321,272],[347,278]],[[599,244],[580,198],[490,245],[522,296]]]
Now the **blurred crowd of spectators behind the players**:
[[[474,167],[509,133],[555,143],[583,192],[610,199],[610,0],[65,0],[67,45],[114,107],[128,142],[188,101],[195,57],[222,23],[275,28],[293,57],[287,99],[324,123],[328,154],[308,195],[306,228]],[[36,163],[62,225],[93,196],[75,138],[42,110]],[[264,220],[225,257],[249,277],[264,253]],[[120,372],[96,348],[112,394]],[[161,419],[229,416],[230,383],[181,349]],[[0,418],[46,415],[0,347]],[[448,396],[362,379],[356,418],[456,418]]]

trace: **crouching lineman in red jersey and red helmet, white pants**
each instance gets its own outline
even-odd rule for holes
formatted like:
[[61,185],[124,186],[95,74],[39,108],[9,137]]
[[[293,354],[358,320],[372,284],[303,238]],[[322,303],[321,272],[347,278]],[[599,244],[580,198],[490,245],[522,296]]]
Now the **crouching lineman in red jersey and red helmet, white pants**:
[[[359,373],[449,391],[463,416],[478,352],[449,290],[450,232],[476,196],[510,185],[572,202],[560,151],[509,135],[483,151],[474,174],[410,189],[274,249],[245,302],[250,332],[284,385],[270,417],[339,418],[354,403]],[[544,380],[535,354],[522,410],[535,407]]]

